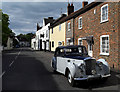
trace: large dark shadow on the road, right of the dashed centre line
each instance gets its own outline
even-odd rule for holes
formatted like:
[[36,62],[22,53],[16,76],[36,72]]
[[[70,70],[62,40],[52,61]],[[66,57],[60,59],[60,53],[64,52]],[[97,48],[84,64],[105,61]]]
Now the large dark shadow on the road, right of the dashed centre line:
[[[3,62],[6,61],[3,59]],[[58,90],[58,87],[43,63],[36,60],[34,53],[28,49],[23,49],[14,64],[6,70],[2,78],[2,89],[3,91]]]

